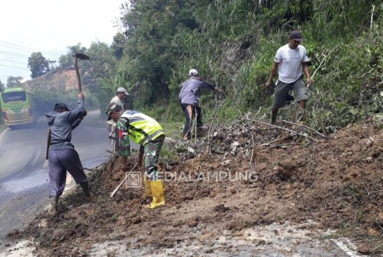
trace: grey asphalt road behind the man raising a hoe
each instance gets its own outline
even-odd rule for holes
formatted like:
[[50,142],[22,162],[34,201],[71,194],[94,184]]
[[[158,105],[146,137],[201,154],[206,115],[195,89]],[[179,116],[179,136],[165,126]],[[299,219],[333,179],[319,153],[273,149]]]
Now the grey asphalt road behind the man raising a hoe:
[[[80,124],[73,130],[72,143],[84,167],[108,158],[107,136],[106,128]],[[0,250],[9,231],[23,228],[49,205],[46,140],[45,122],[0,133]]]

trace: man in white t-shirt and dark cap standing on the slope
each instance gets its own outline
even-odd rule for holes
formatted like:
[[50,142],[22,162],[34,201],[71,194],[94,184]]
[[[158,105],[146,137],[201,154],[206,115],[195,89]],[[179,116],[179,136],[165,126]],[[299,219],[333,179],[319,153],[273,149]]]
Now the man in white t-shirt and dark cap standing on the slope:
[[295,123],[303,123],[308,94],[303,82],[302,70],[307,78],[308,87],[311,87],[311,79],[308,65],[309,58],[307,57],[306,48],[299,45],[301,41],[301,32],[292,31],[289,35],[289,43],[280,47],[275,55],[269,80],[266,82],[266,88],[270,87],[273,77],[278,70],[274,103],[271,109],[271,124],[275,124],[278,110],[284,105],[290,90],[294,92],[298,103]]

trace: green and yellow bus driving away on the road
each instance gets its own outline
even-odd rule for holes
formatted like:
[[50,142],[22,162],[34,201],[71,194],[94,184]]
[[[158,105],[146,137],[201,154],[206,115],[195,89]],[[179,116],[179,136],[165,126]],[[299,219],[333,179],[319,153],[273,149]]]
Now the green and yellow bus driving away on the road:
[[37,122],[37,109],[32,94],[22,88],[7,88],[0,93],[4,124],[9,128]]

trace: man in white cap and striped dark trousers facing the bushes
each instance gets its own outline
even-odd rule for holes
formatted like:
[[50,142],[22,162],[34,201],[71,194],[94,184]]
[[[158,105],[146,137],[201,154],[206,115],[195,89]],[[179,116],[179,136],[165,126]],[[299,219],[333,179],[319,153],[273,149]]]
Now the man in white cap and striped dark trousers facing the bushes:
[[208,88],[211,90],[218,90],[215,85],[201,81],[198,78],[198,71],[196,69],[191,69],[189,71],[189,79],[184,82],[182,85],[181,92],[178,96],[181,103],[182,111],[185,115],[185,126],[184,131],[182,132],[182,139],[189,140],[191,139],[191,127],[192,127],[192,117],[196,115],[196,126],[197,128],[202,127],[201,120],[201,108],[199,107],[199,89]]

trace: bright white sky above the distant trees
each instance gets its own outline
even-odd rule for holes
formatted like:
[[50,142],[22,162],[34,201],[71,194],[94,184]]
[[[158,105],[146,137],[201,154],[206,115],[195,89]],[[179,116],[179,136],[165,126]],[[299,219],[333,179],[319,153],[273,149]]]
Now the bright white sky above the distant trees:
[[[120,6],[125,0],[2,0],[0,2],[0,81],[9,76],[30,80],[28,57],[41,52],[49,60],[68,46],[92,42],[109,46],[121,32]],[[10,67],[9,67],[10,66]]]

